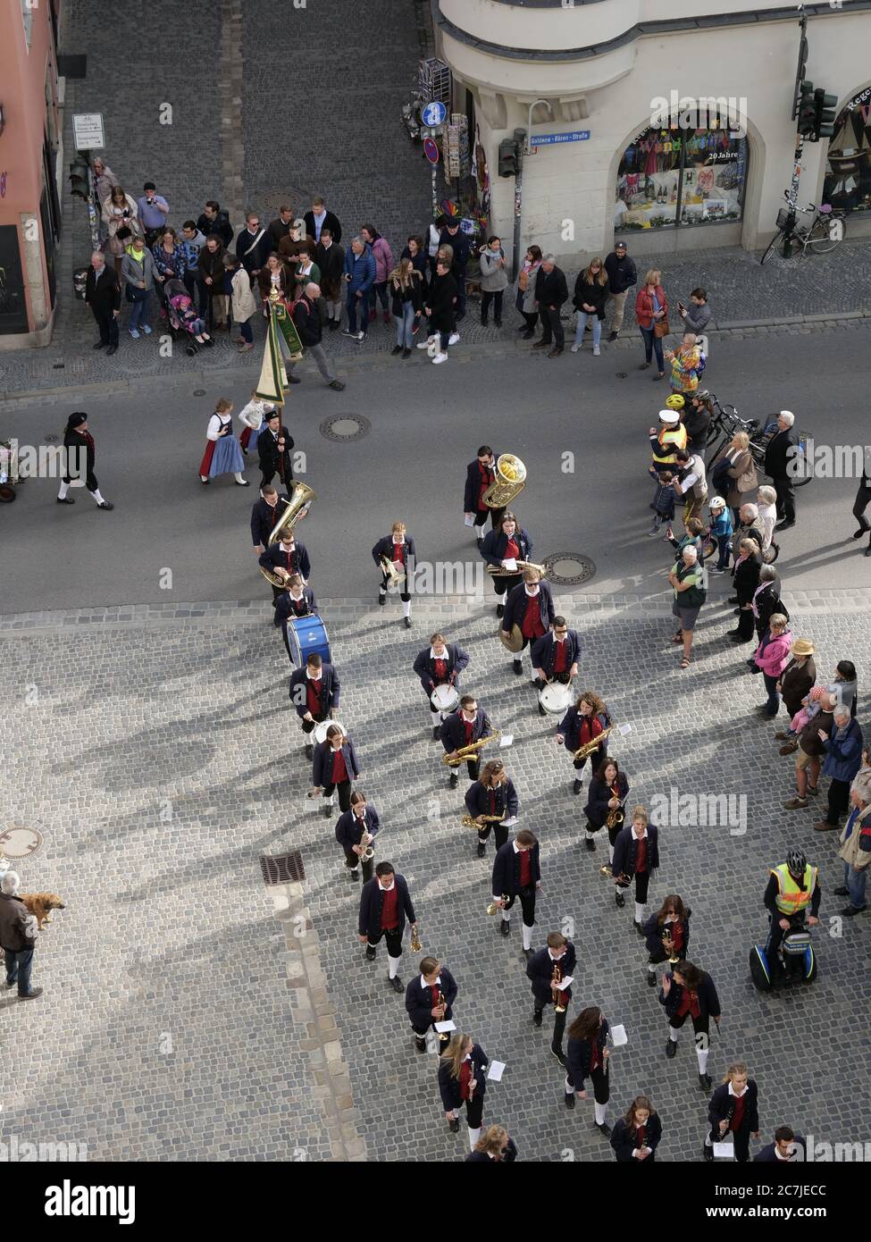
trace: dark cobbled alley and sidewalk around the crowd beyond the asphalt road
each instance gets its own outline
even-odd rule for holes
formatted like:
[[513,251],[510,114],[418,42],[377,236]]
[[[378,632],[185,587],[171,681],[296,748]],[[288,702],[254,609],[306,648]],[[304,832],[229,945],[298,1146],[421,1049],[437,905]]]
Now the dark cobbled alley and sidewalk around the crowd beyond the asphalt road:
[[[124,24],[135,20],[133,10],[108,22],[96,0],[71,0],[62,17],[63,48],[87,51],[88,76],[67,79],[65,150],[73,149],[72,114],[102,111],[111,166],[134,196],[147,178],[155,180],[176,227],[196,217],[206,197],[216,196],[239,212],[251,205],[271,219],[285,199],[304,207],[319,190],[347,231],[372,220],[399,252],[398,243],[420,230],[430,211],[429,165],[399,120],[426,37],[426,5],[360,0],[354,6],[359,56],[340,67],[334,50],[348,27],[340,0],[319,0],[304,10],[247,0],[244,22],[241,9],[241,0],[224,0],[214,20],[198,29],[194,56],[188,42],[165,41],[155,75],[150,58],[130,62],[118,56]],[[171,27],[175,15],[170,0],[149,6],[155,30]],[[276,72],[277,57],[286,65],[288,56],[292,91]],[[160,123],[165,104],[173,108],[171,124]],[[226,118],[221,127],[219,113]],[[86,212],[68,194],[62,207],[55,337],[46,349],[0,353],[0,395],[119,380],[138,384],[240,366],[226,337],[207,355],[189,359],[165,356],[154,338],[133,342],[122,327],[114,358],[92,351],[92,318],[72,296],[73,268],[87,265],[91,247]],[[496,221],[496,227],[508,232],[508,224]],[[234,225],[239,227],[236,215]],[[847,238],[831,255],[775,257],[764,268],[757,255],[738,247],[664,252],[639,258],[639,267],[661,268],[672,299],[686,301],[690,289],[703,284],[713,330],[794,319],[793,330],[799,332],[805,330],[798,323],[804,317],[871,313],[866,256],[867,242]],[[568,276],[574,281],[575,272]],[[125,320],[124,309],[122,324]],[[512,340],[513,309],[502,333],[475,320],[472,304],[462,325],[465,343]],[[261,340],[260,323],[256,330]],[[636,335],[631,329],[629,334]],[[363,347],[333,334],[329,348],[344,363],[389,350],[394,342],[393,327],[378,323]]]

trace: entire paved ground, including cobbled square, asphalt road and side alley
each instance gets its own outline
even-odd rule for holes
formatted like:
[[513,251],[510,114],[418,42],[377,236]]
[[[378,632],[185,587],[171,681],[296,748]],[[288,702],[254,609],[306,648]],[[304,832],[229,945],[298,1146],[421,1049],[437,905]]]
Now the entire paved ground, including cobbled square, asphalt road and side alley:
[[[211,196],[236,224],[247,205],[271,219],[281,201],[304,209],[322,191],[348,233],[372,220],[404,242],[430,210],[427,166],[399,120],[427,47],[427,5],[244,7],[245,20],[242,0],[222,0],[193,40],[160,40],[155,73],[150,34],[140,57],[119,56],[118,22],[104,6],[71,0],[63,46],[87,51],[88,73],[67,82],[67,150],[72,113],[102,111],[111,166],[137,195],[147,178],[158,181],[173,224]],[[147,29],[176,22],[178,6],[154,0]],[[352,43],[359,55],[349,57]],[[158,122],[165,103],[171,124]],[[373,133],[379,142],[362,145]],[[55,445],[68,414],[86,410],[101,488],[116,509],[99,512],[81,489],[75,507],[57,505],[57,481],[37,478],[0,512],[0,833],[40,833],[40,848],[16,862],[22,888],[66,903],[36,951],[43,997],[27,1006],[0,995],[9,1053],[0,1141],[73,1141],[89,1160],[111,1161],[460,1160],[465,1125],[447,1131],[435,1057],[414,1051],[384,948],[374,966],[364,960],[359,888],[339,866],[334,821],[304,796],[311,769],[249,534],[256,461],[247,489],[231,477],[209,488],[198,481],[214,402],[226,395],[242,406],[260,349],[242,360],[222,339],[193,359],[160,356],[154,339],[133,343],[122,330],[114,359],[93,351],[91,315],[71,296],[72,270],[89,251],[82,204],[66,196],[63,220],[55,339],[0,354],[0,438]],[[661,267],[672,298],[708,288],[705,384],[723,402],[762,420],[790,409],[818,446],[867,441],[865,245],[849,238],[832,255],[764,270],[736,248],[639,266]],[[871,920],[837,918],[836,836],[813,831],[826,782],[816,805],[783,809],[793,764],[753,712],[760,678],[744,668],[750,648],[724,637],[734,620],[728,579],[712,580],[688,671],[668,643],[670,549],[646,535],[647,428],[667,389],[637,370],[641,345],[629,325],[595,359],[589,345],[569,354],[569,329],[565,354],[548,360],[517,339],[513,309],[501,332],[476,318],[471,304],[460,344],[435,369],[416,351],[389,356],[395,338],[383,324],[362,348],[331,335],[347,389],[328,390],[303,363],[286,421],[304,455],[297,476],[317,492],[298,534],[342,678],[339,715],[360,758],[359,786],[384,825],[376,861],[405,874],[424,951],[457,979],[458,1027],[508,1067],[502,1084],[488,1086],[485,1124],[504,1124],[524,1161],[613,1161],[591,1128],[591,1100],[574,1113],[563,1105],[550,1015],[543,1031],[532,1026],[519,918],[503,941],[485,913],[492,845],[485,861],[475,857],[475,835],[460,825],[465,773],[449,790],[411,672],[435,628],[471,653],[465,684],[514,737],[502,758],[521,826],[542,842],[536,948],[568,928],[578,949],[569,1021],[595,1004],[626,1027],[609,1120],[650,1094],[664,1123],[661,1158],[672,1163],[700,1159],[706,1124],[692,1040],[683,1035],[677,1058],[666,1059],[666,1020],[645,985],[631,898],[618,910],[599,874],[606,842],[595,854],[580,847],[585,799],[572,796],[555,720],[537,714],[527,678],[512,676],[488,580],[475,575],[461,488],[488,441],[527,465],[514,508],[533,559],[593,563],[584,586],[554,594],[581,633],[579,688],[596,689],[615,722],[631,725],[611,746],[629,773],[630,805],[686,794],[743,800],[737,828],[702,815],[660,817],[662,867],[651,889],[651,910],[668,893],[693,910],[691,956],[723,1006],[714,1082],[747,1061],[762,1141],[783,1123],[819,1140],[864,1140],[871,1098],[861,1082],[845,1092],[842,1067],[855,1063],[867,1025]],[[255,330],[260,343],[260,322]],[[365,433],[328,438],[337,417],[365,420]],[[839,660],[856,663],[865,724],[871,560],[865,540],[850,538],[855,492],[855,478],[814,479],[799,492],[778,570],[793,631],[815,642],[820,681]],[[419,561],[466,570],[424,586],[410,633],[395,601],[373,606],[370,549],[395,518],[408,523]],[[825,893],[819,979],[763,997],[747,958],[764,935],[767,869],[794,845],[820,867]],[[262,859],[293,852],[304,874],[266,884]],[[416,960],[406,941],[405,981]]]

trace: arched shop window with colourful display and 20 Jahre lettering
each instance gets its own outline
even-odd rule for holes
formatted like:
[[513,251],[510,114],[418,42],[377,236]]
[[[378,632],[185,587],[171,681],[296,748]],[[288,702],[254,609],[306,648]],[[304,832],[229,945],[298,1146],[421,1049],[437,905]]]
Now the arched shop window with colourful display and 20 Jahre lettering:
[[615,231],[741,220],[746,178],[747,140],[728,129],[646,129],[620,161]]

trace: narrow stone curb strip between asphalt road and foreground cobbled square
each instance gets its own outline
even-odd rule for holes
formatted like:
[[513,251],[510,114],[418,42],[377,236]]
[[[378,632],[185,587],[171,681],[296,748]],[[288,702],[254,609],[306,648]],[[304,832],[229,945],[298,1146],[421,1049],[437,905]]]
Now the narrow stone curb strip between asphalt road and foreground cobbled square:
[[[712,606],[724,601],[726,589],[712,595]],[[575,625],[583,626],[588,619],[608,617],[660,617],[671,615],[671,594],[631,592],[619,595],[562,595],[554,592],[559,607],[568,611]],[[399,612],[395,600],[390,601],[393,611]],[[842,590],[790,591],[790,614],[819,612],[837,609],[841,612],[871,611],[871,587],[850,587]],[[375,596],[322,599],[321,611],[327,622],[353,622],[370,619],[375,607]],[[702,620],[708,612],[705,609]],[[56,632],[98,625],[103,630],[150,627],[163,625],[237,625],[251,621],[262,625],[272,614],[272,605],[266,600],[231,600],[207,604],[132,604],[109,607],[67,609],[56,612],[19,612],[0,616],[0,635],[4,637],[27,637],[43,632]],[[417,604],[414,611],[419,622],[437,625],[447,616],[451,620],[478,620],[492,614],[492,600],[468,600],[463,595],[430,596],[425,604]],[[390,614],[388,614],[389,616]],[[422,632],[422,631],[421,631]]]

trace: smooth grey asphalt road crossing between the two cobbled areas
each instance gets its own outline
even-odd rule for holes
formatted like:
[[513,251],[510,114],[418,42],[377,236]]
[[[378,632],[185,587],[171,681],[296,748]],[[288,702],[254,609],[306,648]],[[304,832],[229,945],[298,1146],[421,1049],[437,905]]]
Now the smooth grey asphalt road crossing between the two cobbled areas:
[[[865,328],[714,339],[706,383],[748,416],[793,410],[818,445],[864,443],[867,340]],[[419,560],[476,560],[461,498],[480,442],[527,465],[514,508],[532,534],[534,559],[590,556],[598,594],[665,587],[664,545],[646,537],[646,466],[647,428],[667,389],[636,370],[640,349],[605,349],[598,359],[567,350],[548,360],[513,343],[498,348],[501,356],[486,345],[457,345],[437,369],[421,354],[388,356],[372,370],[350,371],[342,394],[314,371],[293,388],[288,422],[307,453],[301,477],[318,493],[299,528],[318,596],[374,596],[370,549],[395,518],[415,537]],[[190,379],[150,390],[143,380],[135,396],[71,397],[0,414],[0,436],[39,445],[84,405],[101,488],[116,503],[103,513],[78,491],[76,505],[62,507],[56,481],[27,482],[0,510],[0,610],[268,597],[249,535],[256,467],[245,491],[229,476],[209,488],[198,481],[214,399],[229,395],[239,409],[255,379],[251,365],[240,368],[229,391],[219,381],[205,397],[193,396]],[[369,435],[326,440],[318,425],[342,414],[365,415]],[[565,471],[567,453],[574,455],[573,472]],[[784,581],[804,590],[871,581],[871,560],[850,539],[855,491],[855,479],[814,479],[800,491],[799,524],[782,540]],[[160,586],[166,569],[170,590]]]

